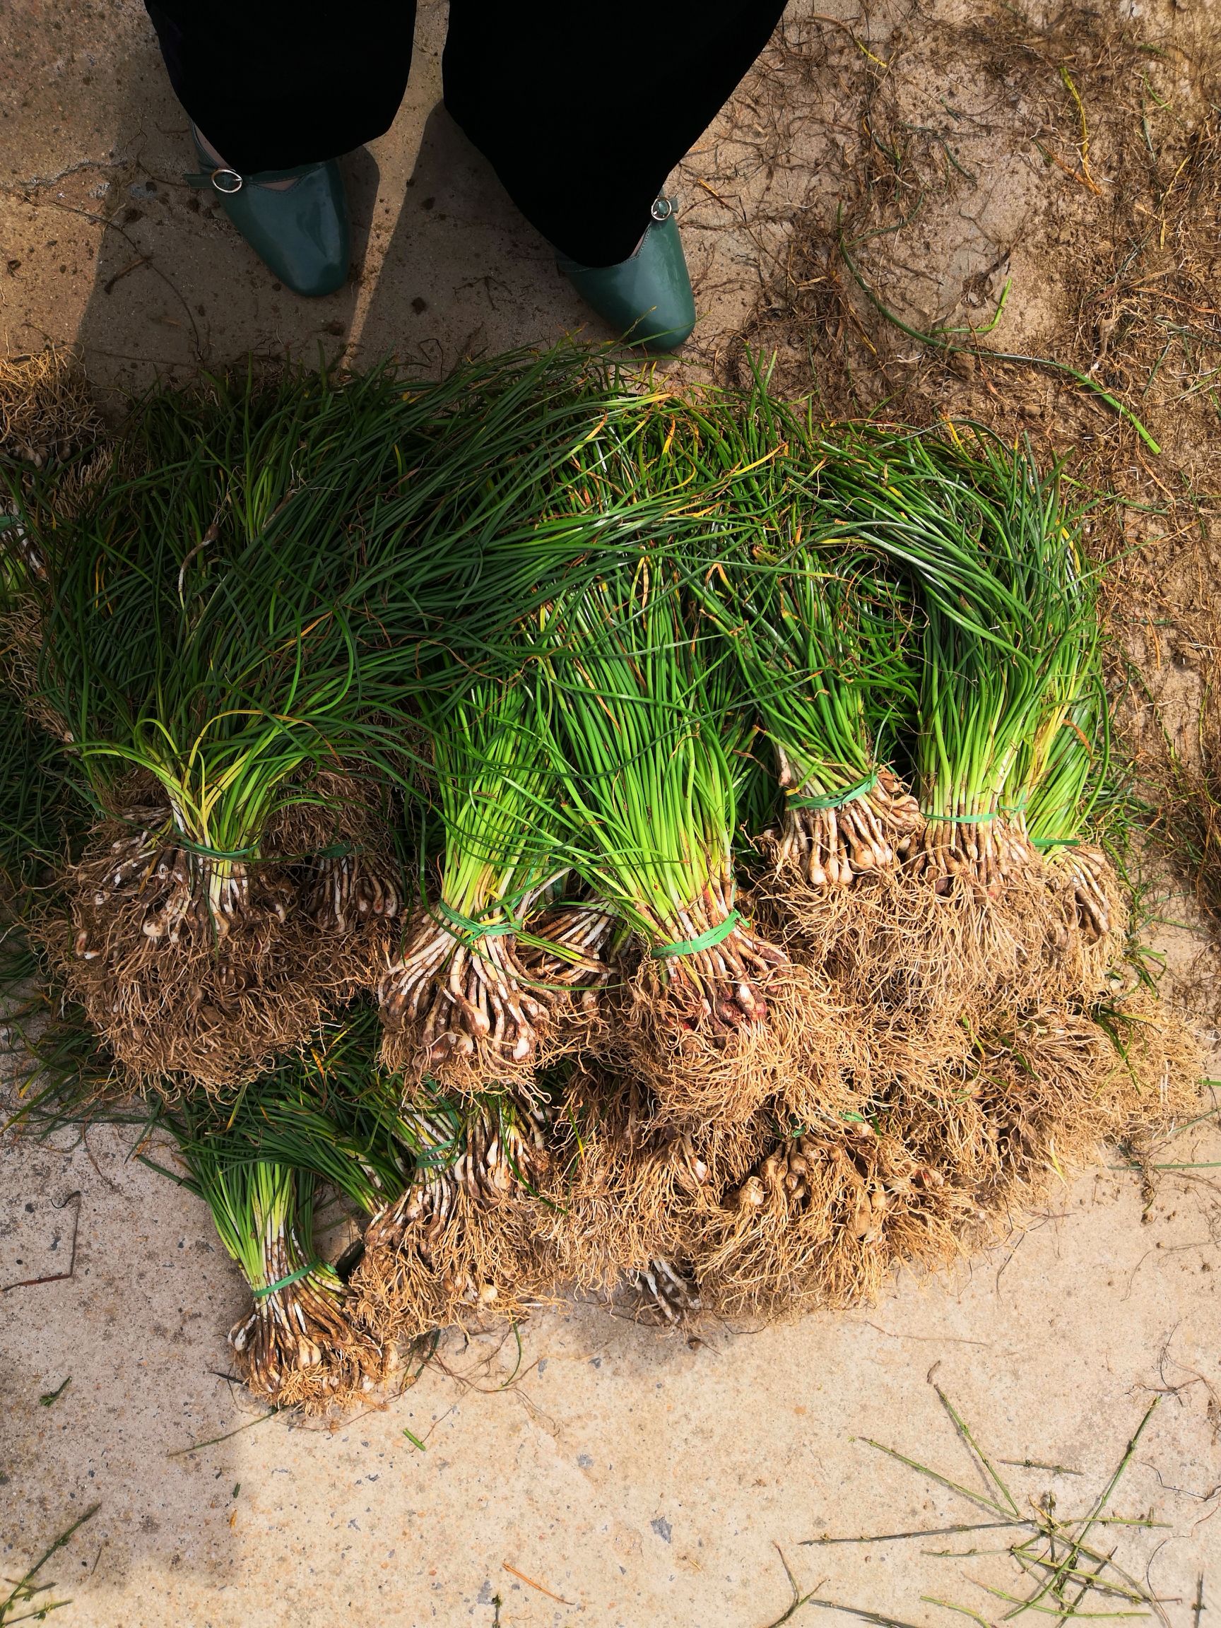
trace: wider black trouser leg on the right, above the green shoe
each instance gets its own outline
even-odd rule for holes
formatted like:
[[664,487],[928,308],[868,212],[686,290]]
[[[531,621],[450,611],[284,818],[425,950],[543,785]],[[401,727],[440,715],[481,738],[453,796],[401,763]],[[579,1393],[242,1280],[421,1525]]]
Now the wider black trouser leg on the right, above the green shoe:
[[451,0],[444,104],[544,238],[583,265],[615,265],[783,10],[785,0]]

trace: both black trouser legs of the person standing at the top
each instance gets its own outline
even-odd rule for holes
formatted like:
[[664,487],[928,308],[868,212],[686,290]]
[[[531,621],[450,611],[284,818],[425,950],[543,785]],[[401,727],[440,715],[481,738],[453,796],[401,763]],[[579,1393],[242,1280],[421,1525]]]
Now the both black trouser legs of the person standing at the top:
[[[145,0],[179,101],[241,171],[389,129],[414,0]],[[583,265],[627,259],[666,176],[783,0],[451,0],[444,101],[513,202]]]

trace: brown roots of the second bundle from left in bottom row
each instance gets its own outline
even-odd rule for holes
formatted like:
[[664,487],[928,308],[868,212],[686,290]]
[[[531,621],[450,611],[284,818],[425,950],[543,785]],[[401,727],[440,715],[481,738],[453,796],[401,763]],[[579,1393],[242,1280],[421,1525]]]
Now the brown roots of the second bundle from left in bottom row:
[[505,1094],[457,1115],[420,1110],[417,1174],[370,1221],[352,1288],[361,1322],[400,1340],[518,1320],[549,1294],[536,1184],[545,1112]]

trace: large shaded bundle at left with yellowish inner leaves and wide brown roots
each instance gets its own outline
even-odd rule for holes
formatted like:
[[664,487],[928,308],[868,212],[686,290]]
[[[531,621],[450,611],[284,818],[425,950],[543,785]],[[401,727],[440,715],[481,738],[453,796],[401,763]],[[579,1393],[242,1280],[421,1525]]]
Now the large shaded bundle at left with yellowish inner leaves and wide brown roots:
[[265,1066],[366,982],[397,908],[386,794],[348,772],[376,687],[353,571],[314,545],[394,400],[295,374],[153,397],[80,513],[23,497],[29,705],[96,822],[42,931],[135,1078]]

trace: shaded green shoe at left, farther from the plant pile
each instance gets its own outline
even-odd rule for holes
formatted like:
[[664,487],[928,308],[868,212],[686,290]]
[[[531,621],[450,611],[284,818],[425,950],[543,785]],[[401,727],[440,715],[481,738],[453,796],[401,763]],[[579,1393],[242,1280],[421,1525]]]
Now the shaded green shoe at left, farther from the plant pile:
[[[335,160],[243,176],[205,151],[194,125],[192,135],[202,173],[187,176],[187,184],[212,187],[267,270],[308,298],[342,288],[352,251],[348,204]],[[269,181],[291,181],[291,186],[270,187]]]

